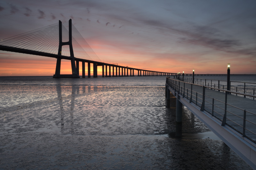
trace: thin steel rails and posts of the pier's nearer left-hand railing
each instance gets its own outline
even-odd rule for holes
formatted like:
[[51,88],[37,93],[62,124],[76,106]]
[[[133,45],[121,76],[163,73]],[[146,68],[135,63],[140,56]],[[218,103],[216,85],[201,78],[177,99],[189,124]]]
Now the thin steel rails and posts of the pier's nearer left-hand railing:
[[[255,132],[253,132],[252,130],[248,129],[248,127],[246,127],[246,122],[252,124],[252,126],[256,126],[256,123],[254,123],[254,122],[252,122],[251,120],[248,120],[248,119],[245,118],[245,117],[246,117],[246,113],[247,113],[247,115],[248,115],[248,114],[252,114],[253,116],[256,116],[256,114],[255,114],[255,113],[252,113],[252,112],[250,112],[250,111],[246,111],[246,110],[241,109],[241,108],[239,108],[239,107],[237,107],[237,106],[234,106],[234,105],[231,105],[231,104],[228,104],[228,103],[227,103],[227,94],[232,94],[232,93],[233,93],[233,94],[240,95],[240,96],[253,97],[253,99],[256,97],[255,95],[250,95],[250,94],[235,92],[235,91],[232,91],[232,90],[225,90],[225,89],[213,88],[213,87],[208,87],[208,86],[204,86],[204,85],[193,84],[193,83],[189,83],[189,82],[184,82],[184,81],[172,79],[172,78],[169,78],[169,77],[166,78],[166,84],[167,84],[168,86],[170,86],[172,89],[174,89],[175,92],[177,91],[178,94],[180,94],[183,98],[186,98],[187,100],[189,100],[189,101],[190,101],[189,103],[194,103],[196,106],[199,106],[199,105],[201,104],[201,111],[205,111],[206,113],[209,113],[209,114],[211,114],[212,116],[218,118],[218,119],[222,122],[223,125],[227,124],[227,125],[230,126],[232,129],[234,129],[234,130],[236,130],[237,132],[239,132],[240,134],[242,134],[244,137],[246,137],[246,138],[252,140],[254,143],[256,143],[255,140],[253,140],[252,138],[250,138],[250,137],[248,137],[248,136],[246,135],[246,131],[252,133],[253,135],[256,135]],[[187,87],[186,87],[185,84],[187,85]],[[189,89],[190,86],[191,86],[191,89]],[[198,91],[193,90],[193,89],[192,89],[193,86],[202,87],[202,88],[203,88],[203,89],[202,89],[203,94],[202,94],[202,92],[198,92]],[[210,96],[205,95],[205,92],[204,92],[204,91],[205,91],[205,88],[207,88],[207,89],[212,89],[212,90],[217,90],[217,91],[223,91],[223,92],[225,93],[225,96],[226,96],[226,97],[225,97],[225,102],[224,102],[224,101],[220,101],[220,100],[218,100],[218,99],[214,99],[213,97],[210,97]],[[187,94],[186,94],[186,93],[187,93]],[[196,94],[196,95],[195,95],[195,94]],[[199,94],[199,95],[198,95],[198,94]],[[211,102],[205,100],[205,97],[207,97],[208,99],[212,99],[213,102],[211,103]],[[195,98],[196,98],[196,99],[195,99]],[[198,100],[198,99],[199,99],[199,100]],[[194,102],[193,100],[194,100],[195,102]],[[202,101],[202,103],[201,103],[200,101]],[[214,101],[218,101],[218,102],[222,103],[222,104],[223,104],[222,107],[225,106],[225,109],[223,109],[223,108],[217,106],[216,104],[214,104]],[[197,103],[199,103],[199,105],[198,105]],[[207,108],[204,107],[204,106],[205,106],[205,103],[208,103],[207,106],[206,106]],[[212,110],[211,110],[211,108],[209,107],[209,104],[212,105]],[[240,115],[238,115],[238,114],[236,114],[236,113],[234,113],[234,112],[228,111],[228,110],[227,110],[227,106],[243,111],[243,112],[244,112],[244,115],[243,115],[243,116],[242,116],[242,115],[240,116]],[[199,107],[200,107],[200,106],[199,106]],[[219,113],[216,109],[214,110],[214,107],[215,107],[215,108],[216,108],[216,107],[219,108],[220,110],[224,111],[225,113],[224,113],[224,114]],[[215,114],[214,114],[214,113],[215,113]],[[229,117],[227,117],[227,113],[230,113],[231,115],[234,115],[234,116],[237,117],[239,120],[243,120],[243,125],[241,125],[241,123],[239,124],[239,121],[231,120]],[[217,115],[216,115],[216,114],[217,114]],[[221,119],[220,117],[222,117],[222,119]],[[227,121],[226,119],[227,119],[228,121],[233,122],[234,124],[236,124],[236,126],[234,127],[234,126],[232,126],[232,124],[228,124],[228,123],[226,122],[226,121]],[[243,129],[243,131],[236,129],[236,127],[241,127],[241,128]],[[245,131],[245,130],[246,130],[246,131]]]

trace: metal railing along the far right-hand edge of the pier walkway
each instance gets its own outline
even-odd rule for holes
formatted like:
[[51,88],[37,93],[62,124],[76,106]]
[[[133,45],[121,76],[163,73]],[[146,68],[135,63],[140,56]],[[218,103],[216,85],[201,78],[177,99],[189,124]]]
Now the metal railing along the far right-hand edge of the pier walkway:
[[[192,83],[191,77],[184,77],[185,82]],[[198,85],[203,85],[207,87],[214,87],[218,89],[227,90],[227,81],[225,80],[212,80],[212,79],[201,79],[195,78],[194,83]],[[253,87],[252,87],[253,86]],[[251,82],[241,82],[241,81],[230,81],[230,90],[238,93],[249,94],[255,96],[256,83]],[[236,94],[237,96],[238,94]],[[240,96],[240,95],[238,95]],[[246,97],[246,95],[243,95]],[[249,97],[251,98],[251,97]],[[255,97],[252,97],[255,100]]]

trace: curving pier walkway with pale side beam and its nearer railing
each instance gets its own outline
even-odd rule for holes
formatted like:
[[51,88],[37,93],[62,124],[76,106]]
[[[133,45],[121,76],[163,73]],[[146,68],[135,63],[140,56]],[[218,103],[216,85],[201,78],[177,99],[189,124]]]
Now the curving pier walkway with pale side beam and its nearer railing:
[[[256,101],[252,99],[256,96],[246,95],[244,98],[243,93],[171,78],[166,78],[166,92],[171,92],[223,142],[256,169]],[[170,101],[170,95],[166,96],[167,102]]]

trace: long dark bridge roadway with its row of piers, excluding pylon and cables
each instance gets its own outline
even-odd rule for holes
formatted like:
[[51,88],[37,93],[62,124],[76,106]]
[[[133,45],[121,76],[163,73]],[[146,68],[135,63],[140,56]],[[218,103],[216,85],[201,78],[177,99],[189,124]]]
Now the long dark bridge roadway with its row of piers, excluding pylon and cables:
[[[57,55],[57,54],[51,54],[51,53],[44,53],[44,52],[39,52],[39,51],[33,51],[33,50],[27,50],[27,49],[22,49],[22,48],[16,48],[16,47],[9,47],[9,46],[1,46],[0,45],[0,50],[3,51],[10,51],[10,52],[16,52],[16,53],[25,53],[25,54],[32,54],[32,55],[40,55],[40,56],[45,56],[45,57],[52,57],[56,59],[65,59],[65,60],[71,60],[71,57],[68,56],[62,56],[62,55]],[[104,76],[111,76],[111,67],[112,67],[112,76],[128,76],[128,69],[130,70],[130,76],[134,76],[134,70],[138,71],[138,76],[154,76],[154,75],[176,75],[175,73],[167,73],[167,72],[157,72],[157,71],[150,71],[150,70],[144,70],[144,69],[139,69],[139,68],[132,68],[132,67],[124,67],[124,66],[118,66],[115,64],[108,64],[108,63],[103,63],[103,62],[98,62],[98,61],[92,61],[92,60],[85,60],[85,59],[79,59],[75,58],[76,61],[76,71],[79,75],[79,62],[82,62],[82,77],[85,77],[85,62],[88,63],[88,77],[91,77],[90,73],[90,64],[93,63],[93,77],[97,77],[97,67],[102,66],[102,77]],[[105,72],[104,72],[104,66],[105,66]],[[107,68],[109,67],[109,70]],[[116,67],[116,75],[114,75],[114,67]],[[118,68],[118,71],[117,71]],[[120,71],[121,68],[121,71]],[[127,72],[125,71],[127,69]],[[109,72],[109,74],[108,74]],[[117,74],[118,72],[118,74]],[[70,77],[68,75],[59,75],[60,77]]]

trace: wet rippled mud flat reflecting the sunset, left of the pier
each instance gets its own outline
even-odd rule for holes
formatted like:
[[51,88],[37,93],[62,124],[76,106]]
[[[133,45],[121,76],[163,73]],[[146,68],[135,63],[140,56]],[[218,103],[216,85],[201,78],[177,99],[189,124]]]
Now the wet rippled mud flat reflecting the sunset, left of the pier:
[[251,169],[162,87],[0,87],[0,169]]

